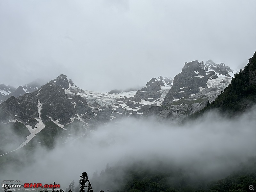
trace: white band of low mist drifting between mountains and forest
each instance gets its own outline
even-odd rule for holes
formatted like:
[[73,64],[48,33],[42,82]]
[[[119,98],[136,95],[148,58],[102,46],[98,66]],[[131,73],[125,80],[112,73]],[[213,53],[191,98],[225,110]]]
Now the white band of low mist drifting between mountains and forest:
[[226,176],[249,157],[255,157],[255,110],[236,119],[208,113],[185,125],[127,118],[100,126],[51,151],[38,149],[29,158],[34,163],[20,171],[8,170],[0,179],[61,184],[78,184],[82,172],[133,162],[170,162],[205,177]]

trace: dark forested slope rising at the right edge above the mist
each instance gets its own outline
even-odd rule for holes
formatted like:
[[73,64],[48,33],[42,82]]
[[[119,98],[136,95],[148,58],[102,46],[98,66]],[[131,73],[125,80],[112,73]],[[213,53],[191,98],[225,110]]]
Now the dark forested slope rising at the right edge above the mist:
[[236,73],[231,83],[211,104],[194,113],[196,118],[211,108],[220,112],[228,112],[228,116],[236,116],[251,108],[256,103],[256,52],[249,63]]

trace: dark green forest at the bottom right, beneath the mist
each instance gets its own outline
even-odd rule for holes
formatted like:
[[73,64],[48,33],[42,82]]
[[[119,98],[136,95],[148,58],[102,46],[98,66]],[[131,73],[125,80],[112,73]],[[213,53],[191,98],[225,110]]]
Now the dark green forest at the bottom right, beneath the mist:
[[[118,180],[118,188],[113,188],[114,177],[109,177],[117,173],[115,170],[122,169],[124,174],[122,180]],[[209,173],[209,176],[211,173]],[[120,175],[115,174],[120,179]],[[233,192],[246,191],[249,185],[256,185],[255,158],[250,159],[246,164],[240,164],[240,170],[233,172],[229,176],[212,181],[205,178],[191,175],[186,170],[172,167],[170,164],[156,164],[156,166],[146,166],[137,163],[128,167],[112,167],[102,171],[97,178],[98,181],[107,180],[103,186],[108,186],[115,192]],[[96,186],[97,187],[97,186]]]

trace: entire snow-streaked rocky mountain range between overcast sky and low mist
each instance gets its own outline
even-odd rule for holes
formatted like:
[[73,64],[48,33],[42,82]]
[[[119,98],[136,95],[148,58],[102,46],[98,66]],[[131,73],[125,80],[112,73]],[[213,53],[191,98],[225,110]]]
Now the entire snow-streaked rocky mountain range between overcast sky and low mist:
[[[32,84],[20,86],[16,90],[21,96],[12,90],[0,104],[0,135],[12,137],[12,132],[3,129],[9,126],[14,132],[19,130],[19,140],[12,148],[0,149],[0,153],[24,146],[51,148],[57,137],[65,143],[86,135],[99,124],[123,117],[155,114],[158,119],[178,121],[203,108],[207,100],[214,100],[233,74],[223,63],[208,60],[185,63],[174,80],[154,77],[138,91],[110,94],[82,90],[63,74],[39,88]],[[6,141],[0,140],[0,144],[6,146]]]

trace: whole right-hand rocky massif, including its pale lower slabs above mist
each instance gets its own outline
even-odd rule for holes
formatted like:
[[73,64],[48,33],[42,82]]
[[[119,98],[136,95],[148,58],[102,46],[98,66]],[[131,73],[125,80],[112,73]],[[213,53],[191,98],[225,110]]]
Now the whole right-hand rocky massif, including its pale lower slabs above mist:
[[180,121],[202,109],[208,100],[215,100],[230,84],[234,74],[224,63],[216,64],[212,60],[185,63],[182,72],[174,77],[162,106],[151,107],[149,114],[157,114],[159,119]]

